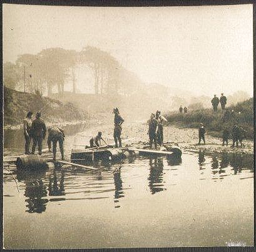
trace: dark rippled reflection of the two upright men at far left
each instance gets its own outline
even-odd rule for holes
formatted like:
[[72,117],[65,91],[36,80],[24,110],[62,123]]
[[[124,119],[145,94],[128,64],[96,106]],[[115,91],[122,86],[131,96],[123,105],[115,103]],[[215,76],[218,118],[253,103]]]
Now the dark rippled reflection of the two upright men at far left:
[[28,197],[25,201],[28,213],[43,213],[46,210],[47,199],[43,197],[47,196],[46,187],[41,179],[34,180],[33,182],[24,182],[26,189],[24,195]]

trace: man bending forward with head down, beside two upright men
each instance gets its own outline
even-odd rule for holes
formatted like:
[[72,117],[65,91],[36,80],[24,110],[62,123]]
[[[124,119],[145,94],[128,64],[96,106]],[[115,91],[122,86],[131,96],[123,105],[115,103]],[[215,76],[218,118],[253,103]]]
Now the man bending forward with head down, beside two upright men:
[[51,152],[51,142],[53,142],[53,160],[56,160],[56,147],[57,142],[59,142],[59,150],[61,151],[61,158],[64,160],[64,130],[58,127],[48,128],[48,148],[49,152]]

